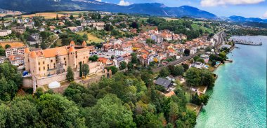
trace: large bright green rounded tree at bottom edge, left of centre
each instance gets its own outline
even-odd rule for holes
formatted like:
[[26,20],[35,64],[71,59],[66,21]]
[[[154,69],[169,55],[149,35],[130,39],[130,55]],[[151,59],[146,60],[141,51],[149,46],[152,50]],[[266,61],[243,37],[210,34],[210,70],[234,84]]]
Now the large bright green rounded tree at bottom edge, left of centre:
[[133,113],[122,105],[115,94],[107,94],[89,109],[87,127],[136,127]]

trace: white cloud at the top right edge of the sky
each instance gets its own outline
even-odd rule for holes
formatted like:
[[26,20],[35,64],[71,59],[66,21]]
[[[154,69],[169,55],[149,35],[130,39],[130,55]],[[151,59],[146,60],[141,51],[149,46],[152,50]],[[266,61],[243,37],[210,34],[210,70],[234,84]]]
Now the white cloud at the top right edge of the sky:
[[201,0],[201,6],[226,6],[240,4],[256,4],[265,0]]

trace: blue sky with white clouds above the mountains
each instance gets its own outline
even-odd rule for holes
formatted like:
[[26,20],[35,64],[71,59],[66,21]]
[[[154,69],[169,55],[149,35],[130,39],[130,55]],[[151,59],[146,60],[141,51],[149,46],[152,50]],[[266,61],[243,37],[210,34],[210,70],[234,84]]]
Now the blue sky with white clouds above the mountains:
[[133,3],[164,3],[166,6],[193,6],[219,17],[240,15],[267,19],[267,0],[96,0],[127,6]]

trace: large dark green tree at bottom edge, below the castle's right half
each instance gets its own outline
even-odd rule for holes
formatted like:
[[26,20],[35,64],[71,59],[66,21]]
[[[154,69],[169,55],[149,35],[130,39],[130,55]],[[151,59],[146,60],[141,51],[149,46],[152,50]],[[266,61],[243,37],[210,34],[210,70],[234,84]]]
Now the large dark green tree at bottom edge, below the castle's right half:
[[85,127],[76,104],[60,94],[41,95],[37,108],[46,127]]

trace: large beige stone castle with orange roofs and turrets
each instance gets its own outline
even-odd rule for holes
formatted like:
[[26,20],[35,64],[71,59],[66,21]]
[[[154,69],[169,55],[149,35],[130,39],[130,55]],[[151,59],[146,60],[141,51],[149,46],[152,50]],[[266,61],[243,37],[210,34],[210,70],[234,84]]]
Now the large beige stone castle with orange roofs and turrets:
[[63,73],[67,71],[68,66],[77,71],[79,63],[89,62],[90,52],[94,50],[93,46],[86,46],[85,41],[82,45],[75,45],[74,41],[71,41],[68,46],[32,52],[25,48],[25,70],[35,78]]

